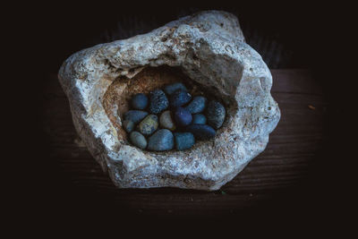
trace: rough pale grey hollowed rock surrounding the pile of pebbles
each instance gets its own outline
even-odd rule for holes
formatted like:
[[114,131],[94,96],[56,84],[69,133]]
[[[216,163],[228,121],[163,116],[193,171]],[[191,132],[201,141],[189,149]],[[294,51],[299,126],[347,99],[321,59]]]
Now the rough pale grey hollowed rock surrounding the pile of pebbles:
[[[103,106],[108,87],[160,65],[180,67],[221,99],[226,120],[215,138],[183,151],[141,150],[125,139],[121,115],[115,117],[118,124],[108,117]],[[77,132],[118,187],[217,190],[265,149],[280,118],[268,67],[245,43],[231,13],[196,13],[147,34],[81,50],[58,76]]]

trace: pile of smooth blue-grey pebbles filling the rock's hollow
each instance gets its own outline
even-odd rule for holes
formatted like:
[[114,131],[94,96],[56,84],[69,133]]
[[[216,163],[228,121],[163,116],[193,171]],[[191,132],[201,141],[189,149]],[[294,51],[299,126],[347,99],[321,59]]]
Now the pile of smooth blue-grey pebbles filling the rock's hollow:
[[[142,93],[131,100],[132,109],[124,114],[124,130],[140,149],[165,151],[192,148],[195,140],[215,137],[224,123],[226,109],[216,100],[195,96],[183,83]],[[203,115],[205,114],[205,115]]]

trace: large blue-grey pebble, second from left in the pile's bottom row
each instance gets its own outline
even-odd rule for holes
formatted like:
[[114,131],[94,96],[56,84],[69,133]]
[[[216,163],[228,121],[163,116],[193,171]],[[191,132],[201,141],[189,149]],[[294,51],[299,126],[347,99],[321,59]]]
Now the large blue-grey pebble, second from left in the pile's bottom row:
[[148,149],[153,151],[166,151],[174,148],[173,133],[167,129],[158,130],[149,137]]

